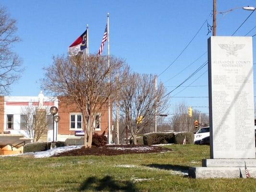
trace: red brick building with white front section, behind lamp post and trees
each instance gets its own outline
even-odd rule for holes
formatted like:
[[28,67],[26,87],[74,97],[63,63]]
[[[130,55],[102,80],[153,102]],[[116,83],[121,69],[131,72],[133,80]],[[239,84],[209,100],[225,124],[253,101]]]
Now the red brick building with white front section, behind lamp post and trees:
[[[41,141],[52,141],[53,139],[53,116],[49,112],[52,106],[57,107],[61,120],[54,124],[54,140],[66,141],[68,138],[82,138],[75,136],[75,132],[82,131],[82,113],[74,103],[67,102],[65,97],[44,96],[41,110],[46,113],[46,120],[49,122],[48,131],[40,138]],[[0,96],[0,134],[22,134],[28,137],[23,127],[23,119],[27,115],[24,108],[27,106],[38,108],[38,96]],[[110,120],[112,120],[112,109],[110,110]],[[95,132],[104,133],[108,137],[108,108],[107,105],[98,111],[95,123]],[[112,127],[112,121],[110,122]],[[111,135],[110,135],[111,139]]]

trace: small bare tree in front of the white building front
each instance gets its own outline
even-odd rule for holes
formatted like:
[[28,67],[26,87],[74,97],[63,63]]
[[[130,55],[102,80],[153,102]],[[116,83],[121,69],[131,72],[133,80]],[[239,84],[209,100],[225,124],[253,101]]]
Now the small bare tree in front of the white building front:
[[[49,111],[49,110],[48,110]],[[38,141],[49,129],[49,119],[46,110],[34,106],[26,106],[21,111],[21,127],[29,138]]]

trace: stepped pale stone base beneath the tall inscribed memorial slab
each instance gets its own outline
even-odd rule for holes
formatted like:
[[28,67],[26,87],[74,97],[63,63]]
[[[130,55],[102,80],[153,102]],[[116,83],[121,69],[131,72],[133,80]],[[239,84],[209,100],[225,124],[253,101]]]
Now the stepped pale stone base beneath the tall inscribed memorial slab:
[[202,159],[202,167],[191,167],[192,178],[246,178],[245,164],[251,178],[256,178],[256,159]]

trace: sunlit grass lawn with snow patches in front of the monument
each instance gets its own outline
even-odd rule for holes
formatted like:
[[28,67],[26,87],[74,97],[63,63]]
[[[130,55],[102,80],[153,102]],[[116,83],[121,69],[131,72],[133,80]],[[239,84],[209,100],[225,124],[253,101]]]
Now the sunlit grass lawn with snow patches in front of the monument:
[[255,192],[254,179],[191,179],[209,146],[169,145],[159,154],[1,157],[1,192]]

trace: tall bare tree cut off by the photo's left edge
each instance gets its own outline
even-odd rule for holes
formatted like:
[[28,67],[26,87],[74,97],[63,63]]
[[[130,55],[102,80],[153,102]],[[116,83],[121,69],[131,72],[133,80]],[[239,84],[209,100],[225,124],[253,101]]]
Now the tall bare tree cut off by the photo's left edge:
[[0,7],[0,94],[9,93],[9,86],[19,79],[21,60],[12,52],[13,44],[20,39],[15,36],[16,21],[5,8]]

